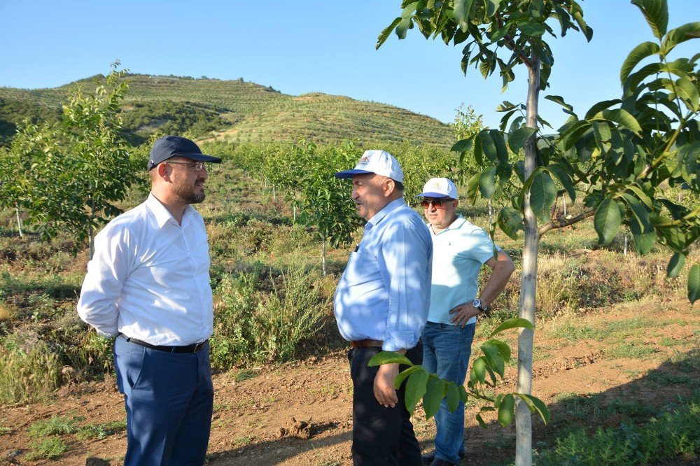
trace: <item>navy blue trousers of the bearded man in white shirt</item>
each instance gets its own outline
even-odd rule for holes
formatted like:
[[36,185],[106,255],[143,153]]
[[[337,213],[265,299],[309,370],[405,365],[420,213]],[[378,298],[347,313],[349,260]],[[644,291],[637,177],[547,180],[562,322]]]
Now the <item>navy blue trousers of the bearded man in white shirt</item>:
[[209,344],[197,353],[167,353],[120,336],[114,366],[127,411],[124,464],[204,464],[214,406]]

